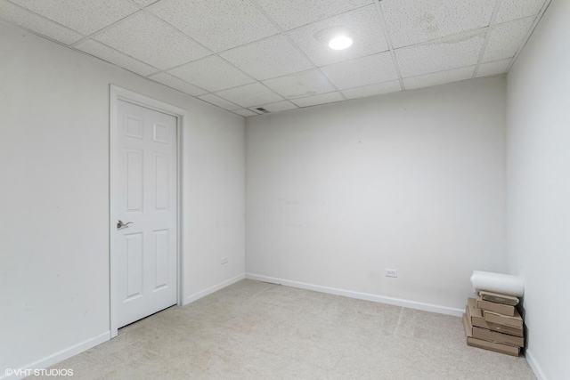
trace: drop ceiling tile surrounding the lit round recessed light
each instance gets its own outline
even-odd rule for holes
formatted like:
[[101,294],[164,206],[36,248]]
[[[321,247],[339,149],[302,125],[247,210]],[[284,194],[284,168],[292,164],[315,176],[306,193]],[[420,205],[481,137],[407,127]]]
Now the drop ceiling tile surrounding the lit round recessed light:
[[[329,47],[330,36],[338,28],[346,29],[353,38],[353,45],[346,50],[332,50]],[[388,50],[374,4],[297,28],[289,32],[289,36],[317,66]]]

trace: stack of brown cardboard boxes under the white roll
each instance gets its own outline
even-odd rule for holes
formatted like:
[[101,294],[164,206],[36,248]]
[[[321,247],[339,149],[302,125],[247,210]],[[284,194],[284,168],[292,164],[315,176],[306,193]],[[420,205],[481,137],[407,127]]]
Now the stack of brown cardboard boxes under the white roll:
[[476,298],[468,298],[463,326],[467,344],[518,356],[525,345],[523,319],[517,311],[518,298],[479,291]]

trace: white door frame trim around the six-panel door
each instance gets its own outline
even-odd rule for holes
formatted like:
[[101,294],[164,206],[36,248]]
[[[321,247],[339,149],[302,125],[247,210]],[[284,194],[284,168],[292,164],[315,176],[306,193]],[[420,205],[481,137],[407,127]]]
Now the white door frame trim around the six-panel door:
[[176,302],[183,305],[183,132],[187,128],[188,117],[185,109],[178,108],[163,101],[134,93],[117,85],[110,85],[110,123],[109,123],[109,267],[110,267],[110,337],[118,336],[118,247],[115,247],[113,233],[116,230],[118,213],[115,201],[117,189],[117,152],[118,152],[118,101],[127,101],[135,105],[153,109],[176,117]]

